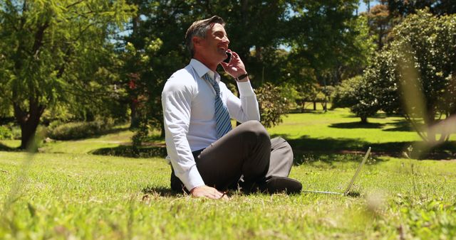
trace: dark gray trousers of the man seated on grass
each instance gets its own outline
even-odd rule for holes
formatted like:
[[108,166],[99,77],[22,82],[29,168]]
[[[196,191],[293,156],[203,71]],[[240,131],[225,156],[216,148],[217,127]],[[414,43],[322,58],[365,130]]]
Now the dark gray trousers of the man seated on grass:
[[[247,121],[229,131],[207,148],[193,152],[204,183],[218,190],[237,189],[239,180],[247,185],[271,176],[288,177],[293,151],[283,138],[269,138],[259,121]],[[184,189],[171,174],[172,190]]]

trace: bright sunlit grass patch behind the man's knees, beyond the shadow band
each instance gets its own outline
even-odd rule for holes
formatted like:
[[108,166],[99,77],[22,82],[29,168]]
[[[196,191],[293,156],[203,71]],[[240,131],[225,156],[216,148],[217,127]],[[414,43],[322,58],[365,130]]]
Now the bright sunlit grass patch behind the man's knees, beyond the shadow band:
[[379,113],[361,124],[360,118],[347,109],[335,109],[319,114],[289,114],[279,126],[269,129],[271,134],[287,138],[356,138],[369,143],[418,141],[420,137],[400,116]]

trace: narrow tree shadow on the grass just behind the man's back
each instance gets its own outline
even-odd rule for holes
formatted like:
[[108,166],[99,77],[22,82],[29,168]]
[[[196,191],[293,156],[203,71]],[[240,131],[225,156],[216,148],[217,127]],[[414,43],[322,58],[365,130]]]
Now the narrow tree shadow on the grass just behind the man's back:
[[135,148],[133,146],[118,146],[115,148],[99,148],[90,153],[103,156],[122,156],[127,158],[165,158],[166,148],[163,146],[147,146]]

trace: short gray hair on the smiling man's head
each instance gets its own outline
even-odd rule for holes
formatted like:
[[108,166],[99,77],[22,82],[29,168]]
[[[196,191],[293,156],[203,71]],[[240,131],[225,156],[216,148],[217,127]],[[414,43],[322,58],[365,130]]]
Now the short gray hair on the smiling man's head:
[[195,47],[193,46],[192,38],[197,36],[199,38],[206,38],[206,33],[211,28],[214,23],[220,23],[222,26],[225,25],[223,19],[219,16],[212,16],[212,18],[207,18],[199,21],[195,21],[192,23],[192,26],[187,29],[187,33],[185,33],[185,45],[187,45],[187,49],[190,51],[190,55],[195,55]]

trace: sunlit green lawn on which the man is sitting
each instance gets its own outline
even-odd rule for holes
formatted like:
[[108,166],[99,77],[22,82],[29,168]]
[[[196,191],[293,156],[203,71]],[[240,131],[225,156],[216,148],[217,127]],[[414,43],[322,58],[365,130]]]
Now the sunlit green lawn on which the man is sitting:
[[351,196],[176,195],[163,158],[88,154],[128,143],[128,131],[0,151],[0,239],[455,239],[456,161],[381,155],[416,133],[399,118],[356,121],[346,110],[290,114],[269,129],[298,148],[291,177],[305,190],[343,191],[362,158],[354,151],[373,146]]

